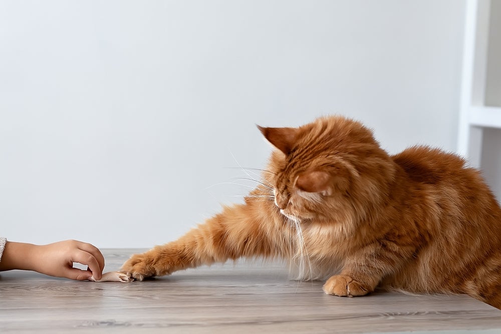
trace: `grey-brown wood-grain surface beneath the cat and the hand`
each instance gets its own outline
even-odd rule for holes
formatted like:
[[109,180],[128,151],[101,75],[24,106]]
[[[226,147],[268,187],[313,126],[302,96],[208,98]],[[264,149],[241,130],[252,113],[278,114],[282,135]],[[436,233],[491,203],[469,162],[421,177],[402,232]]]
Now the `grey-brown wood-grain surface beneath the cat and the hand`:
[[[105,249],[106,271],[137,249]],[[213,265],[133,283],[0,273],[0,332],[501,333],[501,311],[468,296],[340,298],[280,265]]]

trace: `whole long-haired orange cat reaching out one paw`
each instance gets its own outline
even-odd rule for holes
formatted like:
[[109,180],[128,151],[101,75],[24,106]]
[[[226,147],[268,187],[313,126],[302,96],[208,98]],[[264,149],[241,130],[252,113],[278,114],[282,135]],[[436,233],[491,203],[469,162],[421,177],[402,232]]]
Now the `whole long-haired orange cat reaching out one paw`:
[[280,257],[301,262],[301,279],[328,278],[328,294],[466,293],[501,308],[501,208],[463,159],[424,146],[390,156],[337,116],[260,130],[277,150],[244,204],[133,255],[123,272]]

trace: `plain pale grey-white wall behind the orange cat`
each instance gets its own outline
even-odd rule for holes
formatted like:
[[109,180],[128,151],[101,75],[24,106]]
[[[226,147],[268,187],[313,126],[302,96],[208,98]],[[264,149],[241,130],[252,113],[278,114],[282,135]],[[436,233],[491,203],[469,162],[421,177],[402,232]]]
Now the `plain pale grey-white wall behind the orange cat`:
[[[454,150],[463,1],[0,1],[0,235],[149,247],[238,201],[255,123]],[[244,176],[244,175],[243,175]],[[211,187],[212,186],[212,187]],[[209,189],[207,189],[210,187]]]

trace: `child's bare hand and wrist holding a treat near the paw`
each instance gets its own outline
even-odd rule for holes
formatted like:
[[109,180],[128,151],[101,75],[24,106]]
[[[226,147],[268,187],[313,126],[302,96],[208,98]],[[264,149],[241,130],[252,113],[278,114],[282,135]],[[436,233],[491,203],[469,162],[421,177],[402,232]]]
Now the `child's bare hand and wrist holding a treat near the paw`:
[[[87,265],[88,268],[74,268],[73,262]],[[104,269],[104,256],[90,243],[76,240],[48,245],[8,241],[0,262],[0,270],[10,269],[34,270],[75,280],[86,280],[91,276],[100,279]]]

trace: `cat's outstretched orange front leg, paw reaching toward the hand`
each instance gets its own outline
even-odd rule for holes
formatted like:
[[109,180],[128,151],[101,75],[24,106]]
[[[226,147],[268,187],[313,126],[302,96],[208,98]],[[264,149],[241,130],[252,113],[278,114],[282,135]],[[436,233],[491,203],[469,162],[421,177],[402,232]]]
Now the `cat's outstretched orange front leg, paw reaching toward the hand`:
[[253,205],[225,207],[180,239],[132,255],[121,271],[140,281],[228,259],[274,256],[277,231],[270,220],[273,217]]

